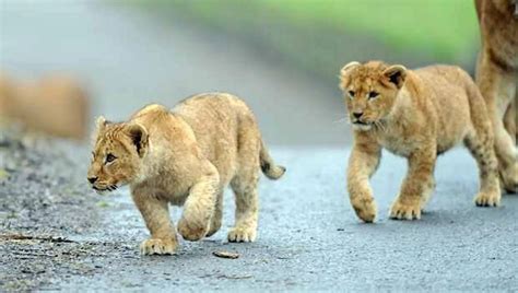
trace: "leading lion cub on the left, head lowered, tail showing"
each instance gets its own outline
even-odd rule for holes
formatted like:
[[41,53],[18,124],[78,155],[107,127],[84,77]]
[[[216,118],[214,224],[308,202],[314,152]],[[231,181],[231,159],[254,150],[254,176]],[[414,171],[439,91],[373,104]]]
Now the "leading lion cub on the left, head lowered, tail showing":
[[178,232],[187,241],[216,233],[223,191],[236,198],[229,242],[254,242],[258,221],[259,168],[279,179],[285,168],[273,163],[251,110],[224,93],[200,94],[173,110],[150,105],[129,121],[97,121],[87,179],[95,190],[129,185],[151,238],[141,253],[173,254],[178,246],[168,203],[184,206]]

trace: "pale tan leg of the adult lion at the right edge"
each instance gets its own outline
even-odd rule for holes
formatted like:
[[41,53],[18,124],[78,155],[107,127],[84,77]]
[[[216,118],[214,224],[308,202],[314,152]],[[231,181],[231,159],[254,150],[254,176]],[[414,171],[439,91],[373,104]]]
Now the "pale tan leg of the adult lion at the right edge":
[[476,83],[485,99],[493,125],[494,148],[503,187],[516,192],[518,187],[518,153],[511,136],[504,128],[504,115],[516,92],[516,77],[496,68],[487,58],[481,58]]

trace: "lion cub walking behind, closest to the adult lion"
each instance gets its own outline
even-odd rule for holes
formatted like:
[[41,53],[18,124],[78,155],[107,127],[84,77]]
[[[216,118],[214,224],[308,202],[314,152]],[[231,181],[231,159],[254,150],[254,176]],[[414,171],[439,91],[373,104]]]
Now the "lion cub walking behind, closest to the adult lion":
[[390,209],[391,219],[421,218],[435,187],[437,155],[461,141],[479,164],[476,206],[499,203],[491,120],[468,73],[449,66],[408,70],[369,61],[344,66],[340,79],[354,129],[348,190],[360,219],[373,222],[376,216],[368,179],[379,164],[382,148],[409,161],[407,177]]

